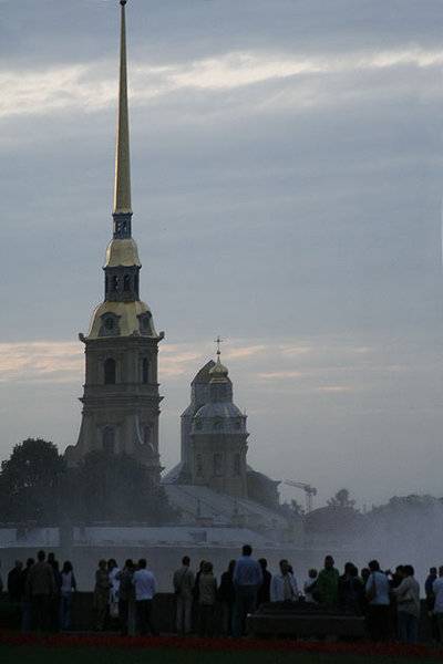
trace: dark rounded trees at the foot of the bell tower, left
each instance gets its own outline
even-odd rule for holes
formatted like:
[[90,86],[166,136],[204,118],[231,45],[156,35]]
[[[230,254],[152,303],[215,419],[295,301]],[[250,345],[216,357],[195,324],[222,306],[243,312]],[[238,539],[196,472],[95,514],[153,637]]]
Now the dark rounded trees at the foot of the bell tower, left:
[[70,468],[53,443],[28,438],[1,464],[0,519],[39,526],[156,526],[176,521],[177,512],[133,457],[92,452]]

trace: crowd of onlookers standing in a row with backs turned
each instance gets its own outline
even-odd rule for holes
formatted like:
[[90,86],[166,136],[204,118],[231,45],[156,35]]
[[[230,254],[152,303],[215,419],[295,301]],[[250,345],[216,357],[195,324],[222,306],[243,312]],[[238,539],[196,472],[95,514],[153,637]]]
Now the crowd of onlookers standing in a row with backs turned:
[[[373,641],[416,643],[419,636],[420,584],[410,564],[391,572],[372,560],[359,571],[347,562],[340,574],[333,558],[327,556],[323,568],[309,570],[300,584],[288,560],[280,560],[278,572],[271,574],[267,560],[256,560],[251,547],[245,544],[219,581],[212,562],[200,561],[194,572],[185,556],[172,575],[172,587],[176,632],[183,636],[197,632],[200,636],[240,637],[247,615],[269,602],[287,608],[306,603],[319,611],[364,616]],[[8,574],[9,598],[21,606],[24,632],[69,631],[75,590],[72,563],[65,561],[60,569],[55,556],[47,558],[44,551],[38,552],[37,560],[28,559],[24,567],[17,561]],[[431,568],[424,591],[432,637],[443,644],[443,566]],[[155,635],[156,592],[154,572],[144,558],[137,562],[128,559],[122,569],[114,559],[101,560],[94,578],[95,629],[119,626],[122,635]]]

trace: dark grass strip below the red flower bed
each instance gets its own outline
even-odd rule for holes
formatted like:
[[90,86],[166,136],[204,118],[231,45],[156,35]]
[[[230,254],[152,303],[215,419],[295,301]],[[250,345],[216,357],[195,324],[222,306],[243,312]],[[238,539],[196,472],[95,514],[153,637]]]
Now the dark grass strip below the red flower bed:
[[42,647],[0,645],[2,664],[412,664],[442,660],[391,656],[361,656],[297,652],[213,652],[184,650],[123,650],[104,647]]

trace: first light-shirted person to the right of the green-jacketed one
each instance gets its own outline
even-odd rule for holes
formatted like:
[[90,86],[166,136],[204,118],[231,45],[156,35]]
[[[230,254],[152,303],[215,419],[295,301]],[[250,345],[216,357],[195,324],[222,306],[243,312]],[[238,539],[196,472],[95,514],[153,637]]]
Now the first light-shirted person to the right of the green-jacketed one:
[[380,571],[378,560],[371,560],[368,564],[370,575],[368,577],[365,593],[368,598],[368,631],[372,641],[388,641],[389,639],[389,580],[384,572]]

